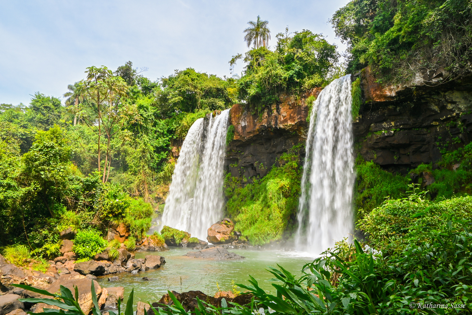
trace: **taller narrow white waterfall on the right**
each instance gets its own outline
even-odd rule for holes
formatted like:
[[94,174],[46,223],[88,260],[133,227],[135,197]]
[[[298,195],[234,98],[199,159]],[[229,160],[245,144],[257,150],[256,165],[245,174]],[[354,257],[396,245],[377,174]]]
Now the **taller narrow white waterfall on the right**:
[[298,250],[318,255],[352,234],[351,102],[347,75],[326,86],[313,103],[295,237]]

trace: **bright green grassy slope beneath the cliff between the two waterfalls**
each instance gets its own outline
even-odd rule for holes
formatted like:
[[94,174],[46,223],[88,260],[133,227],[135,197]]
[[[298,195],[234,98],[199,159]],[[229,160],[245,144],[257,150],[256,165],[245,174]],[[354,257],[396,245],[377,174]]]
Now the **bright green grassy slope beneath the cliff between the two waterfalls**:
[[244,188],[237,187],[239,182],[231,174],[225,180],[227,211],[236,222],[235,229],[253,245],[281,239],[297,211],[302,168],[295,155],[284,154],[281,159],[285,165],[273,167]]

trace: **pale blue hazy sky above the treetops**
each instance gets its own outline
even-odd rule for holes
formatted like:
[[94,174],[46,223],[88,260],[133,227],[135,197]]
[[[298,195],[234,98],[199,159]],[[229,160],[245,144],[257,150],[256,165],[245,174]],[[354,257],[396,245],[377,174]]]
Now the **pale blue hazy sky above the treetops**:
[[269,21],[272,46],[288,26],[323,33],[343,51],[328,19],[347,2],[0,1],[0,103],[28,104],[37,91],[60,97],[86,67],[116,70],[128,60],[152,80],[188,67],[229,76],[257,15]]

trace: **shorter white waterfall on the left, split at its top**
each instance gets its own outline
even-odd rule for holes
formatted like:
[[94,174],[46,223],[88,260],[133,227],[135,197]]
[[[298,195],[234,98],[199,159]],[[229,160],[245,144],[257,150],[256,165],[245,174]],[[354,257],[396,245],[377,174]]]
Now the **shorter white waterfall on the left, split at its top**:
[[210,116],[205,127],[197,119],[188,130],[177,159],[162,225],[206,239],[207,229],[221,220],[223,208],[223,163],[229,110]]

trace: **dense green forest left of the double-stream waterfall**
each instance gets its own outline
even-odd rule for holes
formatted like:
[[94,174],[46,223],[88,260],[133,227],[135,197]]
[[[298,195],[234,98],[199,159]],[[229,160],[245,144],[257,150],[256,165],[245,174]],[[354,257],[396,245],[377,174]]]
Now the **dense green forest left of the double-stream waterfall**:
[[[1,105],[0,246],[24,244],[36,258],[53,258],[68,227],[104,235],[124,224],[133,249],[161,213],[172,141],[237,96],[234,79],[192,68],[156,82],[131,62],[115,72],[89,67],[85,76],[67,87],[66,106],[41,93],[29,106]],[[81,259],[107,245],[87,244],[77,244]],[[116,246],[109,251],[116,255]]]

